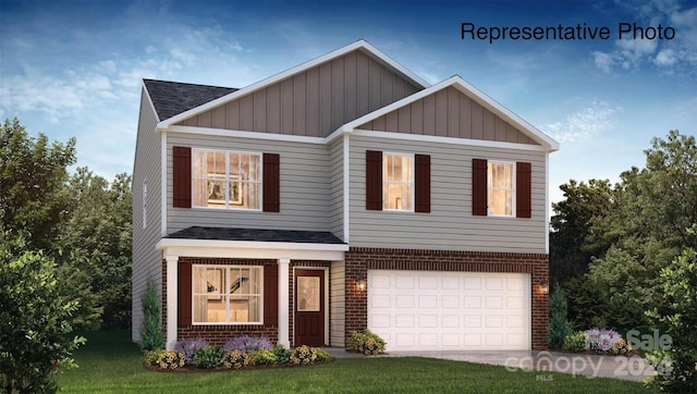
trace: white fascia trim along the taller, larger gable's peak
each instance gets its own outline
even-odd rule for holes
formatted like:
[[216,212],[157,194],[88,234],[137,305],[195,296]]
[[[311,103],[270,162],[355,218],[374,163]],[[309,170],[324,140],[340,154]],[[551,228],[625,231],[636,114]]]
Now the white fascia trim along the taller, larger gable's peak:
[[239,99],[240,97],[246,96],[248,94],[252,94],[256,90],[259,90],[266,86],[270,86],[276,84],[279,81],[285,79],[292,75],[302,73],[304,71],[307,71],[316,65],[319,65],[321,63],[325,63],[329,60],[342,57],[351,51],[354,51],[356,49],[363,49],[367,52],[369,52],[372,57],[379,59],[380,61],[382,61],[384,64],[388,64],[392,67],[394,67],[398,72],[404,74],[406,77],[408,77],[409,79],[412,79],[414,83],[420,85],[421,87],[427,87],[429,86],[429,84],[423,79],[421,77],[419,77],[418,75],[414,74],[413,72],[408,71],[407,69],[405,69],[404,66],[402,66],[401,64],[399,64],[398,62],[395,62],[394,60],[390,59],[389,57],[387,57],[384,53],[380,52],[378,49],[376,49],[374,46],[371,46],[370,44],[368,44],[366,40],[357,40],[356,42],[350,44],[343,48],[339,48],[334,51],[331,51],[327,54],[323,54],[319,58],[313,59],[308,62],[305,62],[303,64],[296,65],[292,69],[289,69],[286,71],[283,71],[281,73],[278,73],[276,75],[272,75],[266,79],[261,79],[257,83],[254,83],[249,86],[246,86],[240,90],[233,91],[229,95],[222,96],[216,100],[212,101],[208,101],[205,104],[198,106],[196,108],[192,108],[188,111],[184,111],[180,114],[176,114],[168,120],[164,120],[162,122],[158,123],[158,128],[167,128],[172,124],[179,123],[185,119],[188,119],[191,116],[194,116],[198,113],[201,112],[206,112],[215,107],[218,107],[220,104],[223,104],[225,102]]

